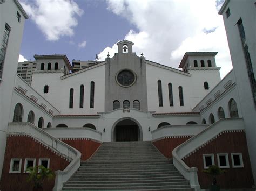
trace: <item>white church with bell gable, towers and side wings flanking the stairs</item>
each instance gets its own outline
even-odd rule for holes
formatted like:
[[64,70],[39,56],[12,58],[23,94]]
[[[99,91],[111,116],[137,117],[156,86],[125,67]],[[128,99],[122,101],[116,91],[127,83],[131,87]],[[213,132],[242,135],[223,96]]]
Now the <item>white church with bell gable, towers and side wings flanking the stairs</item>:
[[[245,6],[250,4],[253,1]],[[19,52],[14,41],[19,39],[21,44],[28,16],[18,1],[2,1],[0,10],[18,10],[22,23],[2,17],[0,37],[6,33],[6,23],[12,29],[22,26],[8,36],[1,62],[0,189],[29,190],[22,181],[32,161],[33,166],[46,164],[56,171],[55,182],[47,188],[62,190],[80,160],[89,159],[103,142],[122,141],[151,141],[166,158],[172,158],[195,190],[206,187],[202,171],[213,164],[228,171],[220,181],[224,188],[252,188],[256,177],[255,26],[247,30],[253,22],[247,16],[251,12],[235,11],[239,6],[244,5],[225,1],[220,10],[226,13],[234,67],[222,80],[217,52],[186,52],[181,69],[175,69],[146,60],[143,53],[132,51],[133,42],[122,40],[112,58],[106,55],[105,61],[71,73],[66,55],[35,55],[30,85],[16,74],[13,64]],[[227,9],[234,9],[236,15],[229,19],[242,18],[245,29],[241,20],[239,29],[231,29]],[[247,40],[241,43],[242,30]],[[243,48],[240,54],[238,46]],[[15,184],[10,185],[9,179]]]

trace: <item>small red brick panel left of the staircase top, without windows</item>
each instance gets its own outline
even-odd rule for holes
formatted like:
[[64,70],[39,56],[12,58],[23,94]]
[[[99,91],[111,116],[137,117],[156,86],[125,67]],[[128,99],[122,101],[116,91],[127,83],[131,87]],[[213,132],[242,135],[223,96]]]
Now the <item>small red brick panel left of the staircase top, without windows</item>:
[[82,154],[81,160],[89,159],[91,155],[95,153],[97,148],[100,146],[99,142],[95,142],[93,140],[87,140],[87,139],[77,139],[77,140],[62,139],[62,141],[76,148],[78,151],[80,151]]

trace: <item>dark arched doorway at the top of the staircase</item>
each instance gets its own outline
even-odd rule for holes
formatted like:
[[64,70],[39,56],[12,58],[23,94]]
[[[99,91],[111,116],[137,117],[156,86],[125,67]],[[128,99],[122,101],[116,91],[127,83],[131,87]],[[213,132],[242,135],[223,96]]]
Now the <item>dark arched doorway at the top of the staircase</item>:
[[142,140],[142,127],[135,119],[126,117],[114,123],[112,141],[131,142],[138,140]]

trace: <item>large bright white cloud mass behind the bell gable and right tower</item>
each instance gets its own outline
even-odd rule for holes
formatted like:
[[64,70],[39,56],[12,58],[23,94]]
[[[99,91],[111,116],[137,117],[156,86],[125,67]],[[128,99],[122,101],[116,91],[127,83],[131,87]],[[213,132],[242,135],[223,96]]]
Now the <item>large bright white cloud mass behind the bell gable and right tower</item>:
[[[139,30],[130,30],[125,36],[133,41],[133,52],[143,52],[146,59],[177,68],[185,52],[217,51],[223,77],[232,65],[223,19],[216,9],[221,1],[107,0],[107,9]],[[113,50],[107,47],[107,51]]]

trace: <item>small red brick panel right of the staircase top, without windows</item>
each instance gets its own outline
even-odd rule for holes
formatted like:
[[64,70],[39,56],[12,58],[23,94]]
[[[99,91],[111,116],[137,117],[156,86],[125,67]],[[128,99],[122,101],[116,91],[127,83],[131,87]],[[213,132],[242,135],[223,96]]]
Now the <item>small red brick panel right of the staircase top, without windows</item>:
[[181,143],[184,143],[190,137],[175,137],[175,138],[164,138],[153,142],[154,146],[165,155],[167,158],[172,158],[172,150],[179,146]]

